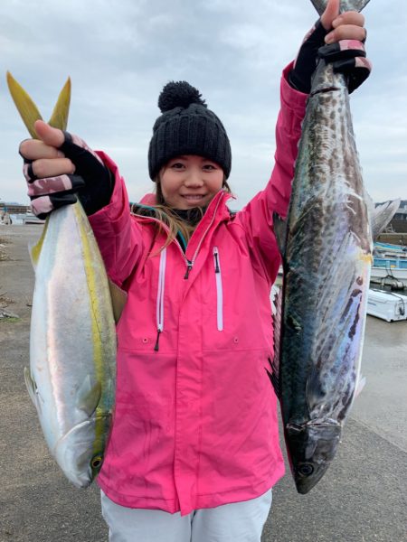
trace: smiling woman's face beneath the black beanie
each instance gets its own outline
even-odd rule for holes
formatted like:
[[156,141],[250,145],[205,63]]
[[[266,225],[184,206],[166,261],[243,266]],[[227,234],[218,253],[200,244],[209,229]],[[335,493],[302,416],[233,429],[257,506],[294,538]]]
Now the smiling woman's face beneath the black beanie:
[[206,207],[223,184],[223,171],[212,160],[185,154],[171,159],[161,170],[161,192],[174,209]]

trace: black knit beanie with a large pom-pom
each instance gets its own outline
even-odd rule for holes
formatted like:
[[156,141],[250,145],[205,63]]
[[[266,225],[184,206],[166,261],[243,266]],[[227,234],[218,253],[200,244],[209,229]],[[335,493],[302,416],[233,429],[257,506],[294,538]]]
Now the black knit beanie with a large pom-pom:
[[148,149],[151,179],[168,160],[181,154],[198,154],[222,167],[225,177],[231,173],[232,152],[226,130],[206,106],[199,90],[186,81],[167,83],[158,98],[163,113],[153,126]]

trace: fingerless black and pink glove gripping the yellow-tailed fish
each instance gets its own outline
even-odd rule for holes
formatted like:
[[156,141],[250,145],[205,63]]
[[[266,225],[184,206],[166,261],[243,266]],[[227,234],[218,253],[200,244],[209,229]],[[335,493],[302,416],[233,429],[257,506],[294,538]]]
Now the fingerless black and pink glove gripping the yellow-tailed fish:
[[59,150],[75,166],[72,174],[39,179],[33,173],[33,160],[24,158],[24,177],[33,213],[40,219],[52,210],[76,203],[78,199],[90,215],[108,205],[114,188],[109,169],[77,135],[64,132],[65,141]]

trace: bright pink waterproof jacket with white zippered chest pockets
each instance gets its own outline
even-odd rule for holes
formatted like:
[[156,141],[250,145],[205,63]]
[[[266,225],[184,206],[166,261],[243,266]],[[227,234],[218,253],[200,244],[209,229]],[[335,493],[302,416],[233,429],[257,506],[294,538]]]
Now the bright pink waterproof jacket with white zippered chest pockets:
[[109,276],[128,292],[118,322],[113,427],[98,476],[120,505],[187,514],[249,500],[284,473],[271,388],[272,211],[285,214],[306,96],[281,84],[276,165],[235,216],[219,192],[186,252],[132,216],[117,166],[109,205],[90,217]]

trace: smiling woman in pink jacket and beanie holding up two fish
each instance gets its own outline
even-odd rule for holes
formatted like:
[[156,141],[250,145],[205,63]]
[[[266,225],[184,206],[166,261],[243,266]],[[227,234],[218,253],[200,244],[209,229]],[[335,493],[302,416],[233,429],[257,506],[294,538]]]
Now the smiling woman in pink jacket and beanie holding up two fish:
[[[232,153],[222,122],[185,82],[160,95],[148,152],[156,193],[130,212],[118,168],[78,137],[37,121],[20,152],[40,216],[78,192],[110,278],[128,293],[118,322],[116,411],[98,483],[112,541],[259,541],[284,473],[270,287],[272,213],[285,215],[317,50],[367,77],[364,18],[330,0],[284,70],[276,164],[264,191],[227,207]],[[356,40],[346,50],[338,41]],[[73,174],[74,173],[74,174]]]

